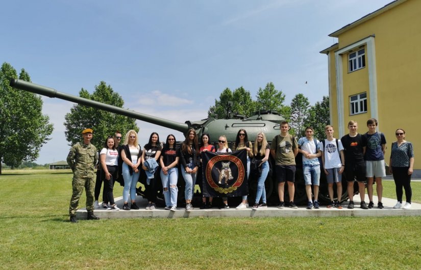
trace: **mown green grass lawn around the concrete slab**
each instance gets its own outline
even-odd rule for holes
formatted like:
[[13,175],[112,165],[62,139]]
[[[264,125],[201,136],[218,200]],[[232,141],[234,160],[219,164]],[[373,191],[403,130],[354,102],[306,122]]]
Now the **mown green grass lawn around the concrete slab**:
[[[0,268],[416,269],[421,217],[68,222],[69,171],[0,176]],[[393,181],[384,196],[395,198]],[[421,182],[413,182],[421,202]],[[121,195],[115,185],[115,196]],[[85,194],[81,207],[85,205]]]

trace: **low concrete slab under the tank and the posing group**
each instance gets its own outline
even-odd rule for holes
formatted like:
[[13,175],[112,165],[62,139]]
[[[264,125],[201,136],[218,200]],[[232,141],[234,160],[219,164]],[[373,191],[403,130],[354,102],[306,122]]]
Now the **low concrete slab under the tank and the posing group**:
[[[194,217],[206,217],[206,218],[220,218],[220,217],[231,217],[231,218],[265,218],[265,217],[385,217],[385,216],[396,216],[396,215],[421,215],[421,204],[412,203],[412,209],[393,209],[393,206],[397,203],[394,199],[383,198],[383,209],[377,208],[377,197],[374,196],[375,208],[373,209],[361,209],[360,208],[360,195],[354,196],[354,209],[347,209],[348,202],[342,203],[343,209],[337,208],[326,208],[326,206],[320,206],[319,209],[306,209],[305,206],[299,206],[298,209],[292,209],[285,207],[284,209],[278,209],[275,206],[269,206],[267,208],[259,208],[252,210],[252,207],[247,209],[237,210],[235,208],[230,209],[218,209],[216,207],[211,209],[199,209],[194,208],[190,212],[186,212],[184,208],[179,207],[177,211],[164,210],[164,208],[158,207],[155,210],[146,210],[147,200],[140,196],[137,196],[136,204],[139,206],[139,210],[122,210],[123,201],[122,197],[116,198],[115,202],[120,208],[119,211],[95,209],[94,213],[100,219],[125,219],[125,218],[194,218]],[[368,196],[365,195],[365,202],[368,205]],[[404,202],[405,204],[405,202]],[[101,205],[101,204],[100,204]],[[79,209],[76,213],[77,218],[84,220],[86,219],[86,208]]]

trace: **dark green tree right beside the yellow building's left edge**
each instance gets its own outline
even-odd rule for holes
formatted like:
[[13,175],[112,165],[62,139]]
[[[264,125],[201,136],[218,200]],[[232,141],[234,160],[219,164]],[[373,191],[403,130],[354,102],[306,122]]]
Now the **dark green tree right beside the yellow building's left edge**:
[[310,107],[305,125],[313,127],[314,137],[320,140],[325,138],[325,127],[329,124],[329,97],[324,96],[322,101],[317,101]]

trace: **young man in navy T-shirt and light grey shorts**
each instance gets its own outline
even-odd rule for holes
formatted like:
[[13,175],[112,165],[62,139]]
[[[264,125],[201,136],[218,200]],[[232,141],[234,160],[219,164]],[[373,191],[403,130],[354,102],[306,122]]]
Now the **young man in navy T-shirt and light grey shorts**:
[[[384,153],[386,152],[386,138],[383,133],[378,133],[377,128],[378,122],[375,118],[367,120],[368,131],[364,134],[367,141],[367,148],[365,150],[365,166],[366,166],[366,177],[367,177],[367,193],[368,208],[374,207],[373,202],[373,182],[376,179],[376,191],[378,197],[377,208],[382,209],[382,195],[383,185],[382,177],[386,176],[386,168],[384,167]],[[376,178],[374,178],[376,176]]]

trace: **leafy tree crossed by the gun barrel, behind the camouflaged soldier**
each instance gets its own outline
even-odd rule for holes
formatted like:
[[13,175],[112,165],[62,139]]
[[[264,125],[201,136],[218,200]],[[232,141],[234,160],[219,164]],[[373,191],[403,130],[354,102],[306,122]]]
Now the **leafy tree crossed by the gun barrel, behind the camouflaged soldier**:
[[[114,92],[110,85],[107,86],[105,82],[101,82],[100,85],[95,86],[95,91],[92,95],[82,88],[79,96],[120,108],[124,105],[121,96]],[[97,110],[93,107],[80,104],[73,105],[70,113],[66,114],[64,119],[66,120],[64,122],[64,126],[66,127],[64,134],[70,145],[82,141],[82,130],[85,128],[93,129],[91,143],[98,149],[103,148],[107,137],[113,136],[116,130],[121,131],[123,136],[130,129],[134,129],[136,132],[139,131],[135,122],[136,120],[133,118]]]

